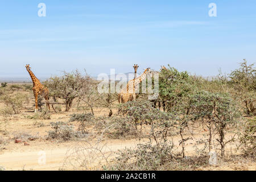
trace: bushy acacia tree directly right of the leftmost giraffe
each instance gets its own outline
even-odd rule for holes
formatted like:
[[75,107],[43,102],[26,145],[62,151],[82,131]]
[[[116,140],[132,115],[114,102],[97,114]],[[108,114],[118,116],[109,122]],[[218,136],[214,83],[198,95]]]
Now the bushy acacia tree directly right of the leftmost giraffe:
[[63,76],[49,78],[45,84],[49,89],[49,94],[53,98],[61,98],[65,101],[65,111],[71,109],[73,100],[80,96],[80,92],[88,88],[90,76],[79,71],[71,73],[64,72]]

